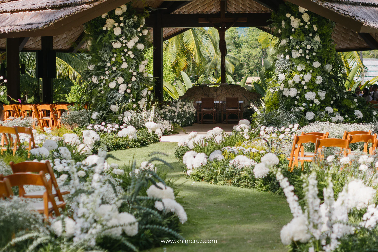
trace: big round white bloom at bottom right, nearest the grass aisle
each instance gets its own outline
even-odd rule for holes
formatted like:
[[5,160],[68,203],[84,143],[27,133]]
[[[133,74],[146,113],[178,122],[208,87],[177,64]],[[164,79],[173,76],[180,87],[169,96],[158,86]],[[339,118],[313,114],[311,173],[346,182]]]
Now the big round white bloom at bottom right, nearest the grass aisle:
[[308,233],[308,221],[307,218],[301,214],[290,223],[286,224],[281,229],[281,241],[284,245],[289,245],[293,241],[300,241],[301,243],[307,243],[310,240],[311,235]]

